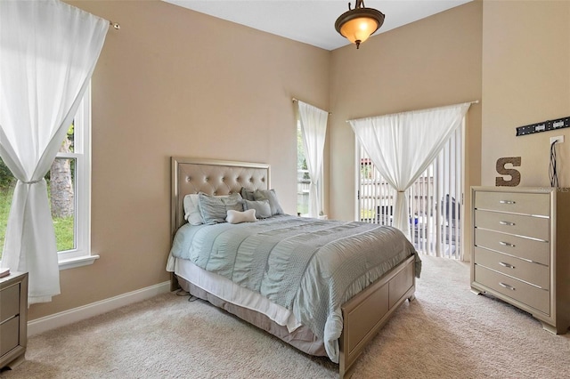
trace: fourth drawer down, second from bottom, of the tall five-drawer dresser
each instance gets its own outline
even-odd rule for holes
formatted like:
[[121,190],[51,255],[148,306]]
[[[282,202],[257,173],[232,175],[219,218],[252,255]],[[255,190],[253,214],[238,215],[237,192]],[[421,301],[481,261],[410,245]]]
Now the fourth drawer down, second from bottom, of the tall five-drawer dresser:
[[547,266],[526,262],[480,247],[475,248],[474,255],[475,264],[497,270],[503,274],[531,283],[534,286],[550,289],[550,270]]

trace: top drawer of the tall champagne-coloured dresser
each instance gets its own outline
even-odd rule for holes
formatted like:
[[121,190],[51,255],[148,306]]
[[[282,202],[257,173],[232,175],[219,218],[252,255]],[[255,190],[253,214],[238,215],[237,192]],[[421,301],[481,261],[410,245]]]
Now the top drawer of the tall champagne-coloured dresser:
[[550,214],[549,193],[513,193],[477,191],[475,208],[514,214]]

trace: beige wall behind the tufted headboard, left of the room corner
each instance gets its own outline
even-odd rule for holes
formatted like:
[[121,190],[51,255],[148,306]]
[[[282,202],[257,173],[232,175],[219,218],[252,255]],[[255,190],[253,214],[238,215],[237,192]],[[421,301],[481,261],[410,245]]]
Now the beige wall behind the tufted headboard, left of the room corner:
[[69,2],[119,22],[93,85],[93,265],[29,319],[168,279],[170,156],[272,165],[296,212],[292,97],[328,109],[330,52],[163,2]]

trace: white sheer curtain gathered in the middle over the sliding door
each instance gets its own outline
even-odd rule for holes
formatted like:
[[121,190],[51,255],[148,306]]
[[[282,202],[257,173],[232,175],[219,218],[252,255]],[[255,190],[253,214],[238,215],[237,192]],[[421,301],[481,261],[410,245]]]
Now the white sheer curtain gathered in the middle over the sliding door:
[[393,115],[350,120],[362,148],[379,173],[396,189],[394,223],[410,238],[410,209],[406,189],[437,157],[470,102]]

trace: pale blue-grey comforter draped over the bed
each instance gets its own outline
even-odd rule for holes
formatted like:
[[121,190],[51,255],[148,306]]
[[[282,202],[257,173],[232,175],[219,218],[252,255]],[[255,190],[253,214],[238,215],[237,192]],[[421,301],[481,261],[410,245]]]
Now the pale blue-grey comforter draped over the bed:
[[410,255],[400,230],[365,222],[277,215],[178,230],[170,254],[191,260],[289,310],[338,363],[340,306]]

